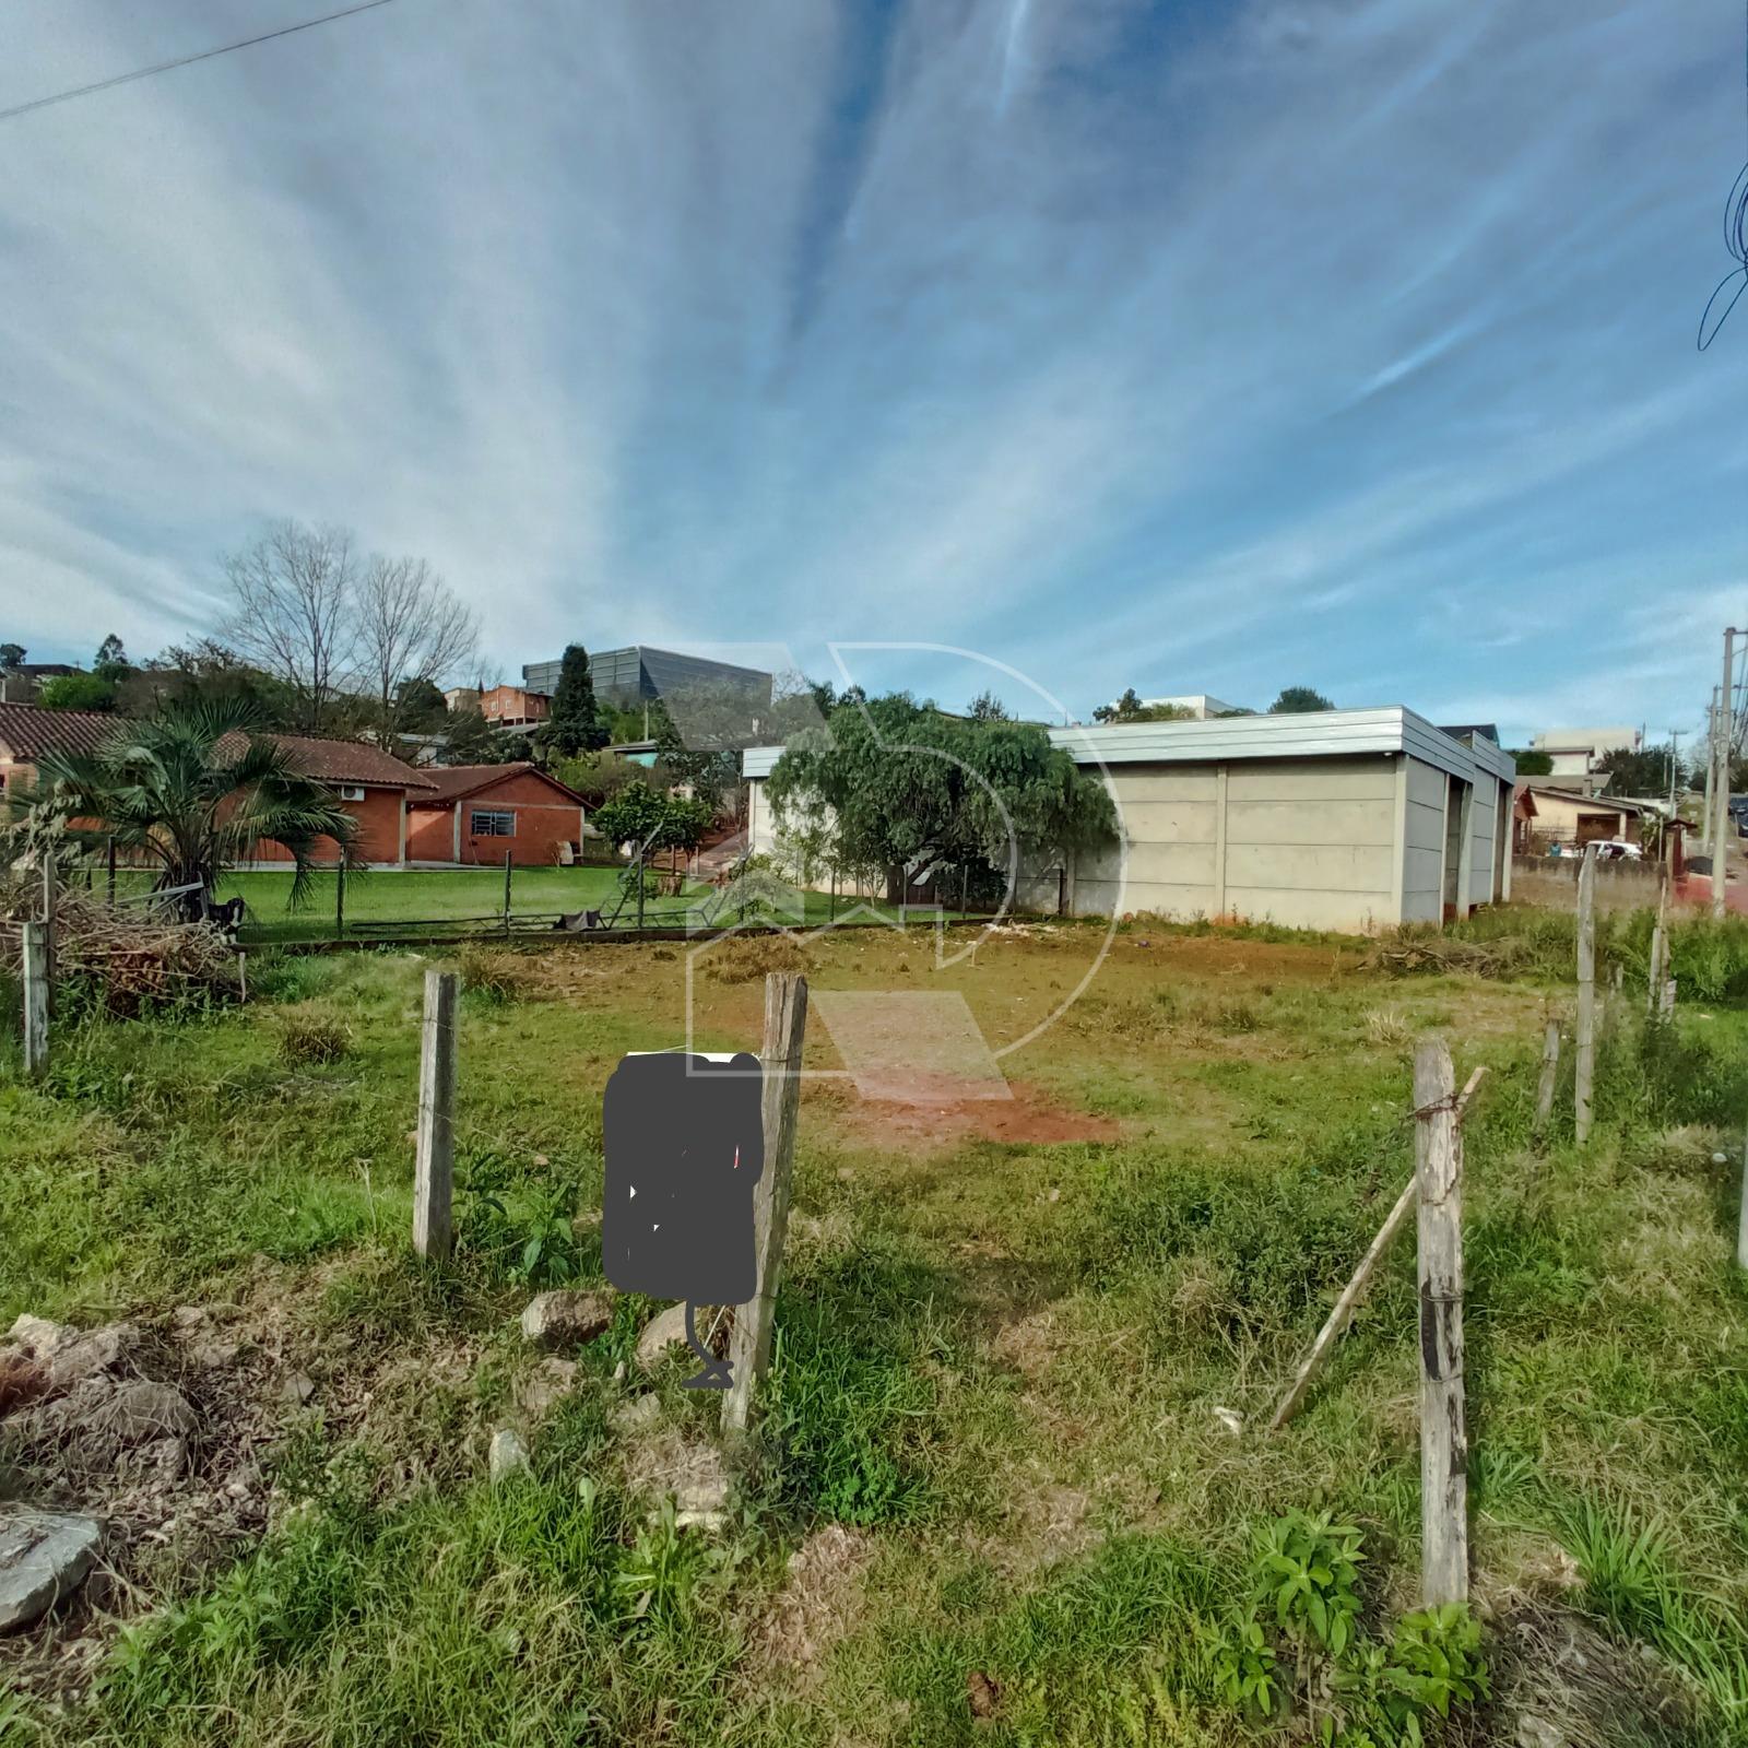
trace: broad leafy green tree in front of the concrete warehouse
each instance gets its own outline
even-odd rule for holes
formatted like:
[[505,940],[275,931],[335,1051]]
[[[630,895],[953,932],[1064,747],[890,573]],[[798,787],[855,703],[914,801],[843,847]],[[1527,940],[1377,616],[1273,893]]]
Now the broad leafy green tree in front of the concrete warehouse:
[[1063,855],[1106,841],[1115,813],[1049,734],[1026,722],[968,722],[909,692],[839,703],[827,732],[790,743],[771,773],[778,815],[836,820],[836,860],[905,869],[951,865],[1005,881],[1016,851]]

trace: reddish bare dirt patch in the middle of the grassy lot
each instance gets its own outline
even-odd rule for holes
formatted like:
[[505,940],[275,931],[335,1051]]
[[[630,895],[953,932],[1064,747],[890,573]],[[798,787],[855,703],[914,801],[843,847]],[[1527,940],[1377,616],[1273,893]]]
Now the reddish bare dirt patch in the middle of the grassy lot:
[[[1113,1117],[1070,1110],[1026,1080],[1009,1080],[1007,1098],[991,1096],[991,1082],[916,1075],[900,1098],[864,1098],[853,1089],[820,1086],[813,1098],[837,1106],[839,1134],[855,1145],[916,1155],[942,1154],[961,1141],[1007,1141],[1051,1147],[1063,1141],[1115,1141]],[[926,1098],[918,1098],[918,1094]]]

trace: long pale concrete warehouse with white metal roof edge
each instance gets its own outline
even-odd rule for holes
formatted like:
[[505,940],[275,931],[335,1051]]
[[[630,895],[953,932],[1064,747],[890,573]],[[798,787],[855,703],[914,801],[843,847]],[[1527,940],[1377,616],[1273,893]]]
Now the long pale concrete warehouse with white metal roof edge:
[[[1103,767],[1120,839],[1028,869],[1024,907],[1372,932],[1510,895],[1516,766],[1479,731],[1391,706],[1049,732]],[[778,846],[764,778],[780,757],[743,762],[757,850]]]

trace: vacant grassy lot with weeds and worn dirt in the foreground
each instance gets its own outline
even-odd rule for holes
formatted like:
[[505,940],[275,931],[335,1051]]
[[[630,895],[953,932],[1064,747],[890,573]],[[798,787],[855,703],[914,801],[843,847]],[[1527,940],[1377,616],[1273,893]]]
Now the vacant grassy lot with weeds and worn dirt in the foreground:
[[[876,930],[806,968],[816,989],[958,991],[1002,1047],[1094,947],[1031,928],[937,972],[926,935]],[[757,1047],[762,972],[794,956],[703,961],[697,1042]],[[1362,956],[1136,926],[1003,1059],[1012,1099],[809,1082],[762,1437],[717,1536],[657,1512],[717,1402],[669,1360],[656,1411],[631,1407],[649,1381],[621,1367],[654,1308],[621,1301],[544,1412],[516,1328],[531,1285],[598,1280],[601,1087],[624,1051],[680,1042],[682,949],[468,956],[447,1271],[406,1243],[435,954],[283,960],[246,1010],[72,1031],[44,1087],[0,1079],[0,1320],[157,1332],[208,1421],[199,1477],[236,1474],[266,1528],[140,1507],[152,1533],[101,1610],[0,1641],[19,1696],[0,1741],[1316,1739],[1335,1696],[1266,1720],[1222,1657],[1288,1510],[1363,1531],[1365,1643],[1414,1605],[1412,1241],[1301,1418],[1260,1423],[1411,1175],[1426,1030],[1460,1075],[1491,1068],[1467,1320],[1493,1699],[1444,1734],[1530,1739],[1528,1711],[1556,1732],[1535,1741],[1743,1739],[1748,1016],[1683,1005],[1645,1042],[1620,1003],[1591,1148],[1564,1117],[1538,1148],[1535,1059],[1566,991],[1388,981]],[[837,1061],[818,1021],[808,1059]],[[178,1306],[236,1353],[203,1370]],[[528,1432],[533,1474],[493,1489],[500,1425]],[[21,1491],[65,1486],[14,1460]]]

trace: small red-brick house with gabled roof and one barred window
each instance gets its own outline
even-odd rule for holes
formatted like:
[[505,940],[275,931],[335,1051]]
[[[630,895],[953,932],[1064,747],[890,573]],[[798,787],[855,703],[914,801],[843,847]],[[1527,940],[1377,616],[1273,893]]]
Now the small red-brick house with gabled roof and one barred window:
[[528,762],[437,766],[407,797],[407,858],[421,867],[552,867],[582,855],[582,797]]

